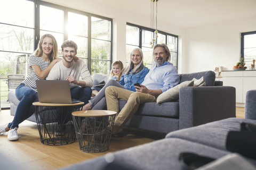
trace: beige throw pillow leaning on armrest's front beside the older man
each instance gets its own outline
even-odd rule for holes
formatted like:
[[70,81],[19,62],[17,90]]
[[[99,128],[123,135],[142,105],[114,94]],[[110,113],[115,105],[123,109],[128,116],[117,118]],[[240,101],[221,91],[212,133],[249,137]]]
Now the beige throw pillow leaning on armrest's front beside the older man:
[[161,95],[159,95],[156,99],[156,103],[157,104],[161,104],[164,103],[166,101],[176,101],[179,99],[179,92],[180,92],[180,88],[182,87],[188,87],[188,86],[194,86],[194,81],[184,81],[180,84],[178,84],[177,86],[166,90],[165,92],[163,92]]

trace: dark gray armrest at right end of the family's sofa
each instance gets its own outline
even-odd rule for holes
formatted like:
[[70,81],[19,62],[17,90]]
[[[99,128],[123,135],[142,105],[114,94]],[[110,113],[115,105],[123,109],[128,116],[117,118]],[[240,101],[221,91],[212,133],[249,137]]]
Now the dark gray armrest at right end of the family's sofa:
[[236,117],[234,87],[184,87],[179,95],[179,129]]

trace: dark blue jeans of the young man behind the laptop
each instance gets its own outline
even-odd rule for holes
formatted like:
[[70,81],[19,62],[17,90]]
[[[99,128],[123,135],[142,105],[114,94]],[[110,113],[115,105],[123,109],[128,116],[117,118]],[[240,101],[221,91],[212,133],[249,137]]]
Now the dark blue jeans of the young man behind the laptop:
[[[88,100],[92,96],[92,89],[90,87],[75,87],[70,89],[71,98],[84,102],[84,105],[88,103]],[[81,108],[82,106],[76,106],[74,109]],[[65,124],[72,119],[70,108],[57,107],[58,123]],[[62,118],[61,118],[62,117]]]

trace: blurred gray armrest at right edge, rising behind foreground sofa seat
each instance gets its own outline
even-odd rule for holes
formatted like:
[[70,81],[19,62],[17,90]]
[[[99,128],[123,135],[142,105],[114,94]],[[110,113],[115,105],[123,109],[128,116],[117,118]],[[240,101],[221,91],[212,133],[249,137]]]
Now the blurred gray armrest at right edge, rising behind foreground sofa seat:
[[250,90],[246,93],[245,118],[256,120],[256,90]]

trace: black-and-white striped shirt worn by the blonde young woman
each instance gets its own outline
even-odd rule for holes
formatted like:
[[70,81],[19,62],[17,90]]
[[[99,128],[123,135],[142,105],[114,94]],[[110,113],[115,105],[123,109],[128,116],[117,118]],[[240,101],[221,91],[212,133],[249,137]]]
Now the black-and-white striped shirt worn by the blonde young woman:
[[25,80],[22,81],[22,83],[25,84],[25,86],[35,90],[36,89],[36,80],[41,80],[38,75],[36,75],[35,71],[32,69],[31,65],[38,65],[41,70],[44,70],[50,62],[44,61],[41,57],[38,56],[30,56],[28,57],[28,69],[29,69],[29,74],[28,77],[26,77]]

